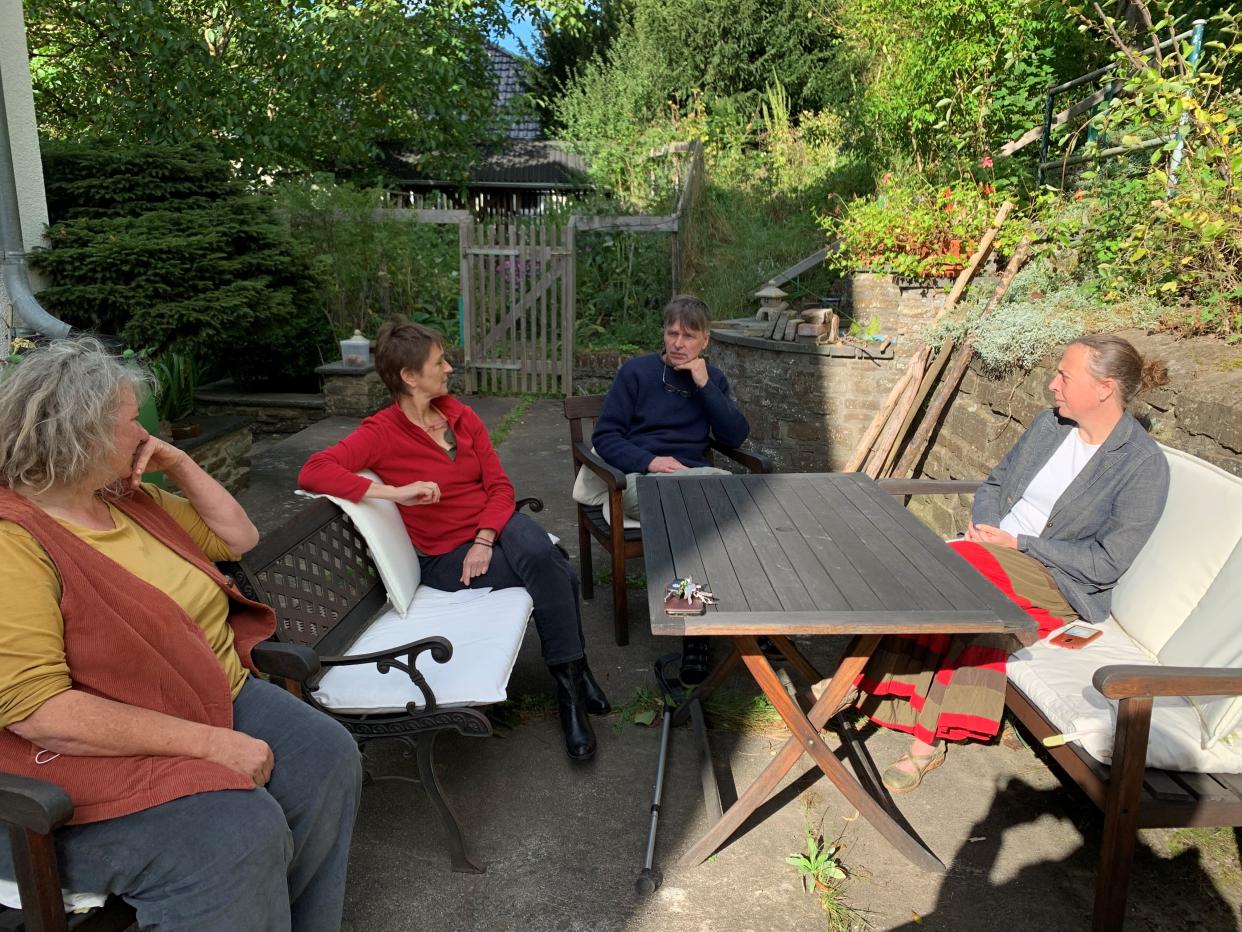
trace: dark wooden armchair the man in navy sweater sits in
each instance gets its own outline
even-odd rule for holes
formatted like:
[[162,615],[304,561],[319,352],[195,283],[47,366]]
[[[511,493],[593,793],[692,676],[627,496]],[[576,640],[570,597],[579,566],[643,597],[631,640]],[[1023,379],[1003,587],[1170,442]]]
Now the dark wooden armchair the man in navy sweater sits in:
[[[626,476],[621,470],[604,462],[591,452],[591,430],[600,416],[604,395],[582,395],[568,398],[564,401],[565,419],[569,421],[569,444],[573,457],[574,478],[578,471],[586,468],[599,476],[609,490],[609,514],[621,516],[621,496],[625,493]],[[771,472],[771,460],[766,456],[743,450],[734,450],[714,439],[709,441],[710,451],[733,460],[750,472]],[[710,455],[710,454],[709,454]],[[604,519],[601,506],[578,506],[578,554],[582,572],[582,598],[595,596],[595,579],[591,568],[591,538],[599,541],[612,563],[612,633],[617,645],[630,642],[628,596],[625,584],[625,562],[642,555],[642,529],[625,527],[620,519],[611,524]]]

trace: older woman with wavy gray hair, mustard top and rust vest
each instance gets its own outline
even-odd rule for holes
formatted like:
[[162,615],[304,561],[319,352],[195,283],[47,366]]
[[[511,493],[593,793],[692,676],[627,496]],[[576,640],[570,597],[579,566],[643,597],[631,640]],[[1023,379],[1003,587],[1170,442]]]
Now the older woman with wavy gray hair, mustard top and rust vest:
[[68,793],[62,882],[143,928],[338,930],[356,747],[252,675],[274,616],[214,560],[258,532],[138,423],[148,383],[89,338],[0,381],[0,768]]

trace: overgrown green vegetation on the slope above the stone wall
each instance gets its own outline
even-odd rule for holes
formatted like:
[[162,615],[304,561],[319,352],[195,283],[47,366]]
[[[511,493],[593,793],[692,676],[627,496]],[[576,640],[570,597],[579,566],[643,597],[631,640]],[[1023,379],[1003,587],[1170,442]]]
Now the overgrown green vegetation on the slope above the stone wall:
[[[825,237],[842,249],[822,277],[792,283],[795,297],[859,267],[951,276],[1010,199],[1017,210],[999,258],[1030,236],[1036,260],[986,324],[979,296],[966,302],[974,318],[958,324],[980,332],[990,364],[1030,362],[1083,327],[1242,333],[1238,20],[1212,15],[1217,5],[805,0],[732,5],[728,15],[718,6],[601,0],[587,39],[544,42],[545,67],[564,87],[548,107],[555,132],[578,140],[619,204],[658,201],[667,179],[652,168],[655,147],[704,143],[708,183],[686,287],[718,317],[749,312],[760,282]],[[1199,67],[1186,42],[1143,51],[1195,15],[1212,16]],[[802,24],[796,41],[786,41],[790,24]],[[739,63],[746,45],[735,31],[768,36],[764,55]],[[718,67],[708,48],[732,50],[735,67]],[[760,58],[765,67],[751,67]],[[1114,92],[1054,130],[1051,155],[1069,164],[1047,171],[1038,190],[1038,143],[1009,158],[1004,144],[1041,123],[1047,87],[1110,61]],[[1159,145],[1094,162],[1149,139]],[[648,285],[638,306],[656,308],[663,295]],[[605,311],[594,326],[619,331],[617,319]],[[647,321],[653,333],[653,314]]]

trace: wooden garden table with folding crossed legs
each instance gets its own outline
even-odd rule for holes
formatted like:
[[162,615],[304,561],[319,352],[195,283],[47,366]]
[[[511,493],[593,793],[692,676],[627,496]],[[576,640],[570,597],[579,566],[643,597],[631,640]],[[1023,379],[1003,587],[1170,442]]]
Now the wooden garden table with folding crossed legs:
[[[1035,623],[863,473],[642,476],[638,478],[651,630],[723,635],[729,656],[678,710],[704,749],[703,787],[714,824],[681,864],[712,855],[810,754],[851,805],[912,864],[944,865],[905,823],[852,729],[836,722],[841,756],[825,727],[886,634],[1027,635]],[[668,584],[693,577],[719,604],[698,616],[663,610]],[[790,635],[852,635],[823,695],[789,695],[760,650],[766,635],[809,683],[823,675]],[[724,808],[715,783],[702,700],[741,661],[789,727],[790,738],[759,778]],[[804,711],[809,706],[809,711]]]

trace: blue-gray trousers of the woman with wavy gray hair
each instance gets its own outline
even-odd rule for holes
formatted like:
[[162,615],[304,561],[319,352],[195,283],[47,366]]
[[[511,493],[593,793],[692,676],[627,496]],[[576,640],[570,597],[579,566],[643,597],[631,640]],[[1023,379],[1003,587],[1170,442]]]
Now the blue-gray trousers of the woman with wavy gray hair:
[[[159,932],[339,932],[358,746],[328,716],[255,677],[233,701],[233,728],[271,746],[266,787],[62,828],[62,886],[117,893],[139,926]],[[0,874],[12,876],[7,845]]]

